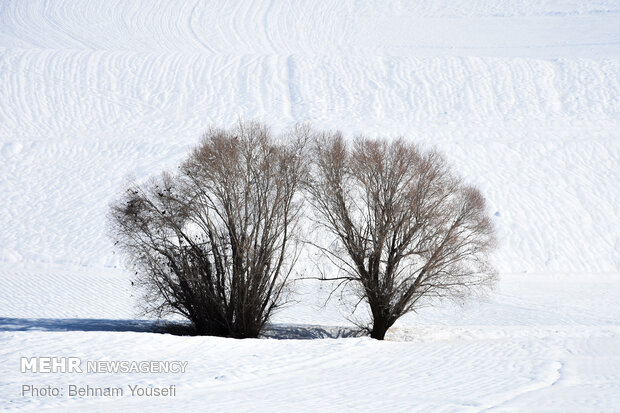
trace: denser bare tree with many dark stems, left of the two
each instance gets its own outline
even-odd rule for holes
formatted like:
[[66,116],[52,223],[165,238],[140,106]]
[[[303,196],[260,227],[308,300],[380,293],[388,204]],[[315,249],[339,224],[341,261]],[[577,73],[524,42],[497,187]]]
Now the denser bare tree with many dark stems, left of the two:
[[298,256],[302,135],[211,129],[178,173],[132,184],[111,205],[149,311],[181,314],[198,334],[258,336]]

